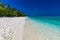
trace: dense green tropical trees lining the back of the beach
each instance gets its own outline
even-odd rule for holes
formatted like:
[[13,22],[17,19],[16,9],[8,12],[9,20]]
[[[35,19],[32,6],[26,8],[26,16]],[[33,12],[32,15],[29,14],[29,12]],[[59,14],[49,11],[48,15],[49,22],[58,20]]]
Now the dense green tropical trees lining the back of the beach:
[[9,4],[4,5],[0,2],[0,17],[19,17],[25,14],[15,8],[11,8]]

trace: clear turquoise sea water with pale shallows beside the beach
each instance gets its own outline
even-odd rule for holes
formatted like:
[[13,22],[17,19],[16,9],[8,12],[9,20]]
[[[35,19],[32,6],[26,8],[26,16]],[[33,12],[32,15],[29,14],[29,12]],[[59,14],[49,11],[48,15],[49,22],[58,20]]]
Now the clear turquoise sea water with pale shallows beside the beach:
[[28,17],[44,40],[60,40],[60,16]]

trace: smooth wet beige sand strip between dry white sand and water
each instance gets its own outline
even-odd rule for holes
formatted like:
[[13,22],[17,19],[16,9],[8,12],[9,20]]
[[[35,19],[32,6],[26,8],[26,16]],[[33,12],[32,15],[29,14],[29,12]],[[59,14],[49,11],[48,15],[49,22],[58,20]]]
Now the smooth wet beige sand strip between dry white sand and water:
[[24,25],[23,40],[43,40],[37,29],[30,24],[29,20],[26,20]]

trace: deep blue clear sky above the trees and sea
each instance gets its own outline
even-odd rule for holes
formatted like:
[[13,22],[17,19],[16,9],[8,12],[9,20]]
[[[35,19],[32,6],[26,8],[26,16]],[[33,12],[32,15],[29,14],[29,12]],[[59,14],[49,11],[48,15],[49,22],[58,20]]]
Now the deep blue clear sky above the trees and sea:
[[2,0],[28,16],[60,15],[60,0]]

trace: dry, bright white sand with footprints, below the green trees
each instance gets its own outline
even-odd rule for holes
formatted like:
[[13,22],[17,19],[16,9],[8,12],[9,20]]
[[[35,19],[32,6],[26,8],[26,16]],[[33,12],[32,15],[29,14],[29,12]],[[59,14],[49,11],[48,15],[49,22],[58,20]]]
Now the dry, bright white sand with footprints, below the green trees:
[[22,40],[23,39],[22,38],[23,37],[22,36],[23,35],[23,25],[25,23],[25,19],[26,19],[26,17],[18,17],[18,18],[17,17],[13,17],[13,18],[8,18],[8,17],[4,18],[4,17],[2,17],[2,18],[0,18],[0,29],[1,28],[5,28],[6,29],[6,30],[5,29],[3,29],[3,30],[1,29],[2,32],[0,33],[0,40],[7,40],[7,39],[4,39],[4,35],[3,34],[4,34],[4,30],[5,30],[6,31],[6,35],[8,35],[9,28],[11,29],[12,32],[14,32],[12,34],[13,36],[11,36],[9,34],[10,37],[13,37],[12,40]]

